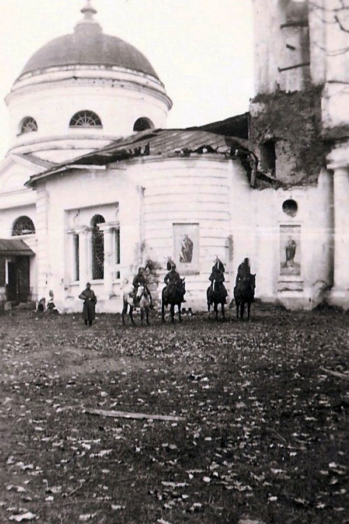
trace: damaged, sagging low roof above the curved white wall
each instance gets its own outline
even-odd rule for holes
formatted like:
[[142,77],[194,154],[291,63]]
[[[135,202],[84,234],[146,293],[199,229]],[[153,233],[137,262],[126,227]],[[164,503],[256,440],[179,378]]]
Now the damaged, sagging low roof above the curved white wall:
[[191,154],[233,155],[235,150],[248,154],[248,141],[244,138],[225,137],[203,129],[155,129],[133,133],[126,138],[114,140],[110,145],[73,161],[59,163],[51,168],[32,175],[27,186],[34,186],[38,180],[83,166],[105,166],[109,163],[135,157],[189,157]]

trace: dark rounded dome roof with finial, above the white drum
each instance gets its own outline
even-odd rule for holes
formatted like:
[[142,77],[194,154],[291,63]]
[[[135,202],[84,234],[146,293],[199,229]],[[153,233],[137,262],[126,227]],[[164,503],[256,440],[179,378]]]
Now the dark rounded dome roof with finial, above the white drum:
[[74,33],[54,38],[36,51],[20,77],[45,68],[80,65],[117,66],[158,78],[148,59],[133,45],[117,36],[103,34],[93,19],[96,10],[89,2],[82,13],[84,19],[76,25]]

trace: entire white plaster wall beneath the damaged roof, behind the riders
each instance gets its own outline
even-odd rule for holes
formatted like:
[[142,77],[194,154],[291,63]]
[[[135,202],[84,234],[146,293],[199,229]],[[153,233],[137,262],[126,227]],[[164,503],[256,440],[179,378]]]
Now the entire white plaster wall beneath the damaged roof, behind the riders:
[[[81,310],[77,295],[86,283],[86,275],[80,275],[79,283],[71,282],[66,270],[72,256],[66,232],[77,211],[75,226],[88,226],[97,213],[107,222],[120,223],[121,279],[113,284],[112,299],[105,282],[92,282],[99,311],[121,310],[125,279],[130,284],[148,257],[161,265],[161,293],[166,261],[174,257],[176,223],[200,226],[200,272],[186,275],[186,307],[206,310],[208,278],[216,255],[225,263],[230,299],[237,266],[246,256],[257,273],[255,295],[263,300],[310,309],[332,284],[333,195],[327,171],[321,173],[317,186],[258,191],[249,187],[238,161],[216,155],[142,157],[124,162],[122,168],[76,170],[65,173],[64,179],[52,177],[37,195],[38,295],[48,296],[52,289],[61,310]],[[282,210],[290,198],[298,205],[295,217]],[[281,281],[290,279],[281,277],[279,259],[280,226],[287,224],[299,225],[302,231],[302,273],[291,278],[302,283],[302,291],[281,291]]]

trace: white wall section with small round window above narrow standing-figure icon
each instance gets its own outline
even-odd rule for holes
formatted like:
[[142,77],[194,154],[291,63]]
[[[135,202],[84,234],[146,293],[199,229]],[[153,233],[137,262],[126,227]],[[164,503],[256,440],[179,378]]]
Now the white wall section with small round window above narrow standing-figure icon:
[[[263,300],[280,300],[287,307],[312,309],[324,297],[333,278],[333,189],[331,175],[322,171],[318,185],[292,189],[267,189],[256,195],[258,201],[258,269],[256,295]],[[298,211],[290,217],[283,202],[297,202]],[[280,275],[280,226],[301,226],[301,275]],[[280,291],[282,282],[302,282],[303,291]],[[278,291],[279,290],[279,291]]]

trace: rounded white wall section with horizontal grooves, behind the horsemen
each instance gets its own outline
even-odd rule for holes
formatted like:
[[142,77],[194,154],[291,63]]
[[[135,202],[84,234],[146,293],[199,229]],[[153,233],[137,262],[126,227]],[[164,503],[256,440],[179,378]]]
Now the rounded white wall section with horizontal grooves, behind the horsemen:
[[[174,259],[173,224],[199,224],[200,273],[186,277],[186,307],[206,310],[206,290],[216,255],[225,264],[225,286],[232,298],[235,269],[253,254],[255,230],[251,219],[251,188],[237,161],[205,157],[142,161],[133,168],[144,187],[144,259],[162,266],[160,296],[168,256]],[[234,239],[230,256],[229,237]]]

